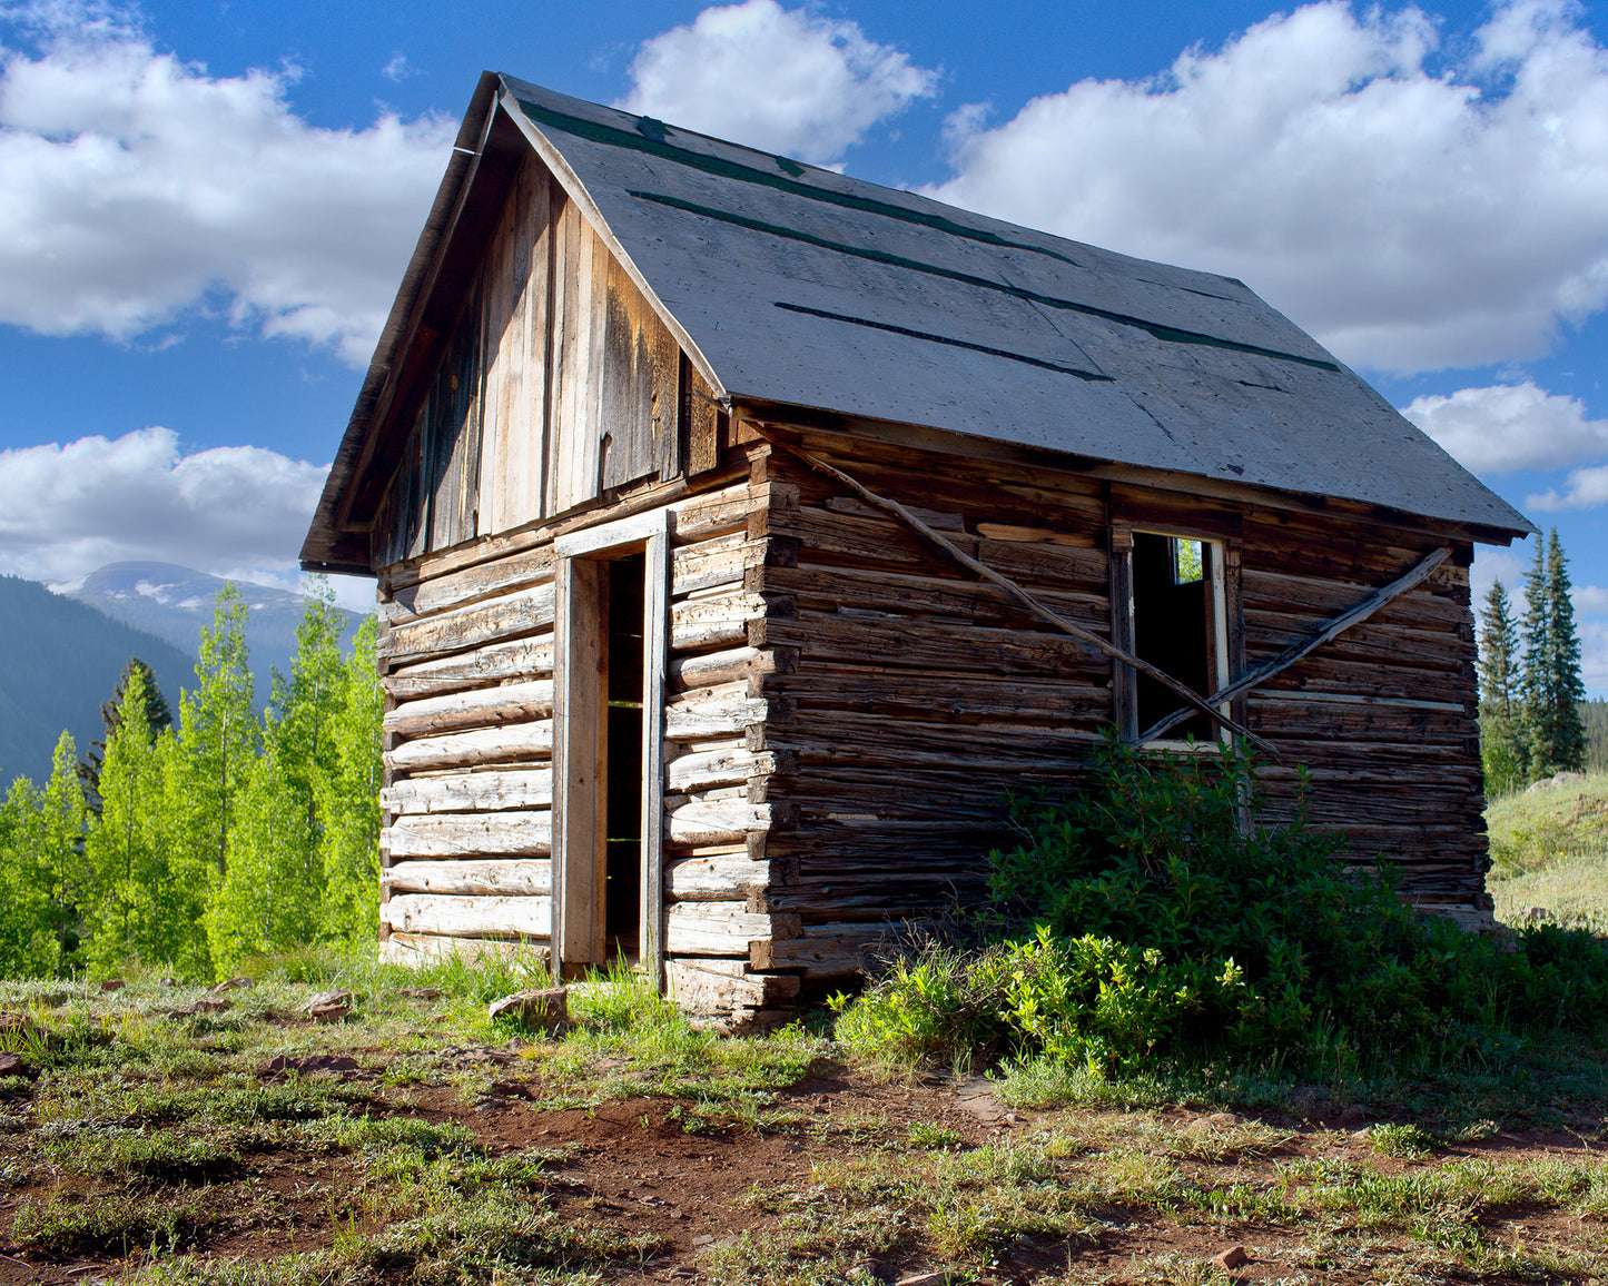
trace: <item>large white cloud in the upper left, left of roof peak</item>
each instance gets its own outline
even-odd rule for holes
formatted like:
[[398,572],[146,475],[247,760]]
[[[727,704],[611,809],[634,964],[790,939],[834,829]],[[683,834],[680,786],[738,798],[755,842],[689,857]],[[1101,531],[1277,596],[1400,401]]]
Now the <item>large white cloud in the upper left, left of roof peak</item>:
[[130,339],[191,309],[360,365],[452,124],[317,129],[294,69],[214,77],[116,10],[0,10],[0,322]]

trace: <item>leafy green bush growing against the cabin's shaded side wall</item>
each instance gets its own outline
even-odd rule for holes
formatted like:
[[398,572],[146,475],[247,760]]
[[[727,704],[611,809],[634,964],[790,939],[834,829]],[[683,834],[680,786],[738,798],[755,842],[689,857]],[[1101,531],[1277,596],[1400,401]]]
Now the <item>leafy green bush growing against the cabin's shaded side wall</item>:
[[1097,784],[1016,801],[984,940],[926,945],[846,1006],[839,1037],[900,1058],[1047,1058],[1134,1075],[1163,1058],[1339,1071],[1489,1058],[1608,1018],[1608,947],[1540,926],[1516,948],[1402,905],[1304,817],[1262,825],[1249,752],[1116,738]]

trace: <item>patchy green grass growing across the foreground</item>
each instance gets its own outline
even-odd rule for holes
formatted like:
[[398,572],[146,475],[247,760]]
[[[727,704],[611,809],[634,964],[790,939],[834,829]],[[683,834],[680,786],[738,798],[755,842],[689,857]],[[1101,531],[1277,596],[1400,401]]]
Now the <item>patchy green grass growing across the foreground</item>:
[[[1494,1053],[1438,1082],[1336,1072],[1317,1087],[1328,1111],[1365,1103],[1384,1122],[1362,1138],[1293,1127],[1298,1087],[1277,1066],[1158,1066],[1126,1082],[1008,1066],[995,1098],[1024,1119],[1007,1127],[928,1111],[950,1091],[844,1069],[852,1056],[802,1027],[696,1030],[619,976],[576,993],[563,1038],[486,1018],[487,992],[529,984],[505,963],[442,966],[429,977],[441,995],[423,1000],[399,993],[416,976],[362,961],[265,961],[256,976],[206,1022],[167,1018],[191,992],[156,979],[105,995],[0,984],[0,1010],[29,1016],[39,1066],[0,1098],[0,1252],[88,1260],[137,1286],[579,1286],[667,1278],[669,1265],[732,1286],[868,1286],[933,1267],[1204,1286],[1225,1276],[1200,1247],[1235,1241],[1282,1257],[1288,1280],[1608,1272],[1597,1154],[1468,1154],[1499,1128],[1592,1114],[1577,1130],[1608,1138],[1605,1059],[1581,1043],[1518,1063]],[[359,995],[357,1018],[289,1018],[330,985]],[[264,1075],[272,1059],[320,1053],[359,1069]],[[851,1095],[798,1096],[823,1075]],[[719,1235],[693,1246],[687,1225],[630,1215],[659,1207],[597,1186],[595,1140],[534,1130],[627,1101],[643,1140],[630,1167],[675,1146],[716,1170],[722,1157],[796,1161],[716,1202],[696,1227]],[[510,1103],[534,1117],[531,1137],[486,1133],[513,1119]]]

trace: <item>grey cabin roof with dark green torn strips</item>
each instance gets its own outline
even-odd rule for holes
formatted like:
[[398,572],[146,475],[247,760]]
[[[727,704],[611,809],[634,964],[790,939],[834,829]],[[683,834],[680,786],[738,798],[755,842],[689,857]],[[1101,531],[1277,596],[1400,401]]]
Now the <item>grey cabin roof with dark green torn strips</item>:
[[[719,394],[1534,530],[1241,281],[1153,264],[544,90],[494,103]],[[309,534],[318,559],[449,228],[455,154]],[[373,387],[370,387],[373,386]],[[320,540],[323,534],[323,540]]]

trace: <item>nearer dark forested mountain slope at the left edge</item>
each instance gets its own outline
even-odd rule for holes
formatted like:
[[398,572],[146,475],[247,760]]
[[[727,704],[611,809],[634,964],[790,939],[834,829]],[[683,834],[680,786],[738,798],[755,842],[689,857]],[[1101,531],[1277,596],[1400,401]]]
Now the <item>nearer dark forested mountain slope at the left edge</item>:
[[178,688],[195,683],[195,657],[154,635],[34,580],[0,575],[0,791],[26,775],[50,776],[50,756],[66,728],[82,759],[103,736],[100,704],[130,656],[156,672],[178,709]]

